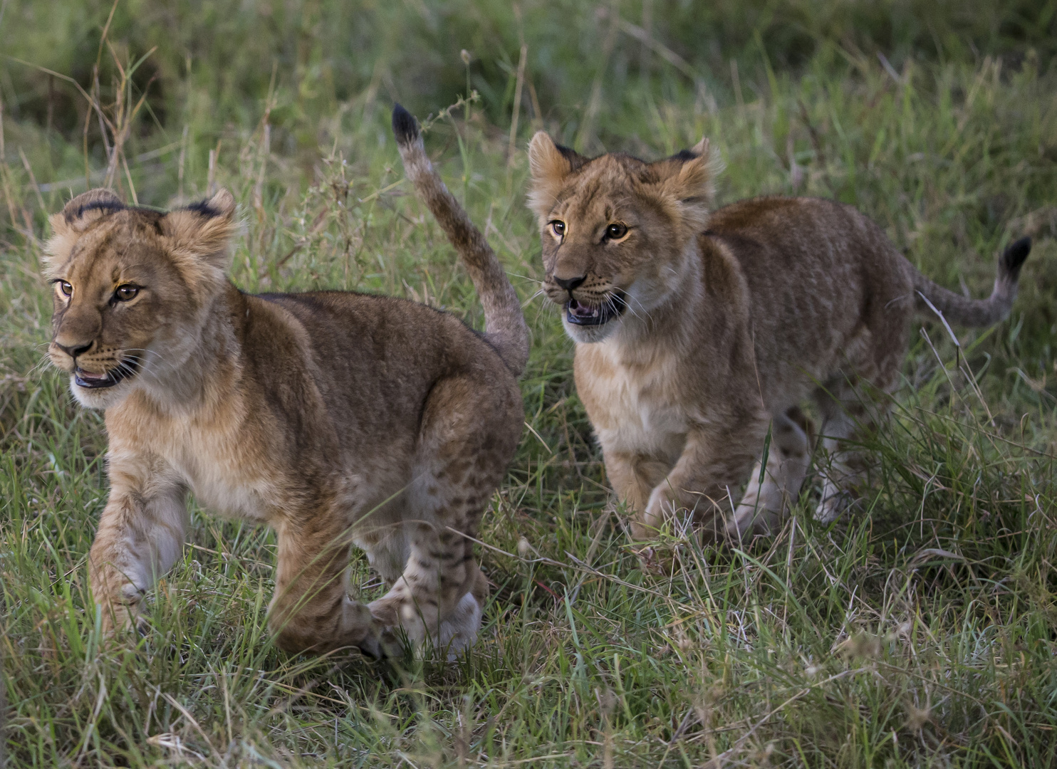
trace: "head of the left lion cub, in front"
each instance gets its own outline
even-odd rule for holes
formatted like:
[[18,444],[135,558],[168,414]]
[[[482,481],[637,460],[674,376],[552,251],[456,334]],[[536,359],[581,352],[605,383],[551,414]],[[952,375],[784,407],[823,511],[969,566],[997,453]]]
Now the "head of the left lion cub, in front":
[[45,275],[55,312],[48,355],[82,405],[108,408],[138,382],[160,382],[197,346],[225,283],[235,199],[169,213],[128,207],[109,190],[51,218]]

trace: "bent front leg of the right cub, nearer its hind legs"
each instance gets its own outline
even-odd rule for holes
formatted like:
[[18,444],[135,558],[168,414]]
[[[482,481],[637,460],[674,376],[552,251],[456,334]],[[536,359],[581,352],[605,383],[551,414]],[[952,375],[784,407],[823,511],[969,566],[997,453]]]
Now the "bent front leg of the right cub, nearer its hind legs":
[[675,466],[650,492],[635,536],[648,537],[678,510],[689,511],[694,521],[705,524],[706,531],[719,536],[730,499],[763,446],[767,421],[765,416],[754,415],[726,429],[691,429]]

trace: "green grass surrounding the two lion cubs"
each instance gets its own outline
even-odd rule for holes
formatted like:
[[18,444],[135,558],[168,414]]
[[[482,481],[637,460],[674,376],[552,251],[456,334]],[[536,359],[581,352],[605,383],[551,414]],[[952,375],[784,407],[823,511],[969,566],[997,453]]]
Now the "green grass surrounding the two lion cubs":
[[[305,7],[320,18],[337,13],[326,3]],[[657,5],[660,32],[679,27],[680,7]],[[775,7],[779,20],[806,13]],[[1025,26],[1049,29],[1053,7]],[[524,11],[530,41],[556,29],[540,8]],[[492,11],[489,23],[517,40],[513,22]],[[935,40],[977,23],[941,11],[929,22]],[[411,14],[387,13],[392,23]],[[834,4],[827,13],[832,25],[848,12]],[[996,12],[1017,13],[1012,5]],[[453,13],[440,15],[455,23]],[[571,29],[580,34],[592,18],[577,17]],[[509,164],[512,96],[495,83],[490,93],[480,88],[469,119],[460,108],[457,119],[438,120],[427,147],[475,221],[488,223],[525,300],[534,345],[522,391],[532,430],[486,514],[488,547],[479,555],[493,599],[480,642],[457,664],[279,653],[264,629],[273,536],[193,505],[185,557],[148,603],[150,632],[137,644],[99,652],[85,561],[107,495],[106,435],[100,416],[77,408],[64,377],[41,363],[51,313],[39,267],[44,215],[71,189],[84,189],[80,128],[75,111],[63,112],[49,132],[32,99],[21,114],[4,101],[0,654],[8,766],[700,767],[718,756],[724,766],[1057,764],[1057,73],[1050,54],[970,36],[963,39],[976,40],[978,56],[938,54],[931,36],[922,42],[908,33],[891,41],[903,53],[889,57],[890,73],[867,42],[841,39],[840,29],[809,30],[812,44],[801,51],[768,22],[762,48],[754,48],[746,18],[731,16],[725,27],[749,30],[730,54],[740,88],[730,68],[691,59],[709,73],[715,106],[659,60],[649,78],[622,75],[619,62],[639,53],[622,33],[602,93],[620,77],[631,86],[616,101],[602,100],[596,130],[582,135],[587,148],[652,157],[708,135],[727,163],[722,201],[796,190],[853,203],[927,275],[952,287],[964,282],[975,296],[989,290],[1001,247],[1030,231],[1036,245],[1013,316],[993,330],[956,330],[961,350],[941,326],[915,325],[893,418],[869,446],[877,472],[868,510],[832,527],[815,524],[813,479],[777,537],[743,548],[667,537],[655,566],[644,570],[576,397],[572,343],[535,296],[538,236],[524,207],[527,136],[539,126],[570,140],[580,134],[597,63],[590,52],[557,43],[545,50],[550,59],[533,59],[526,79],[541,78],[551,112],[534,114],[525,96]],[[275,37],[259,31],[265,53],[285,44],[279,21]],[[244,41],[254,40],[248,23],[236,30]],[[41,26],[37,48],[20,58],[50,64],[48,57],[69,56],[62,72],[74,72],[73,58],[81,68],[87,59],[90,71],[98,26],[71,24],[48,31],[58,52],[43,48]],[[416,35],[449,30],[408,24]],[[87,53],[74,44],[75,27]],[[319,34],[326,41],[334,33]],[[682,35],[664,39],[686,53]],[[886,42],[879,33],[873,39]],[[462,43],[446,44],[457,55]],[[326,59],[316,44],[305,61],[313,51]],[[423,55],[448,53],[437,43]],[[243,55],[267,58],[253,48]],[[500,63],[471,75],[486,85],[487,67]],[[4,67],[6,99],[20,93],[24,75],[20,64]],[[140,116],[123,191],[131,180],[142,203],[168,205],[183,168],[183,198],[204,194],[207,150],[220,139],[216,181],[235,192],[246,222],[233,257],[238,285],[396,294],[480,325],[477,298],[443,235],[406,185],[395,184],[402,172],[385,87],[372,87],[368,75],[324,98],[295,88],[297,72],[305,72],[298,67],[283,60],[276,68],[268,147],[270,61],[263,83],[244,60],[227,80],[172,75],[169,92],[150,102],[160,127],[149,113]],[[456,75],[416,96],[420,117],[458,90],[452,77],[465,77],[461,64],[444,67]],[[509,74],[496,82],[508,80],[512,94]],[[546,96],[544,80],[568,92]],[[243,83],[240,93],[225,82]],[[564,107],[551,109],[559,98]],[[89,160],[98,169],[92,130]],[[359,555],[354,573],[365,597],[378,594]]]

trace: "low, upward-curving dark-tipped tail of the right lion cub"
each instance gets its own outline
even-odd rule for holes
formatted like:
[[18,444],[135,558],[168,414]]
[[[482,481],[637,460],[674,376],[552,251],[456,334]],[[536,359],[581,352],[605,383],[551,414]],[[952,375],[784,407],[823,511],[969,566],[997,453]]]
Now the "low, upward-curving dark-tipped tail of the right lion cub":
[[1031,251],[1031,238],[1021,238],[1005,249],[998,260],[995,290],[987,299],[966,299],[914,270],[914,308],[923,315],[932,315],[939,311],[949,322],[958,325],[997,323],[1009,315],[1009,310],[1013,308],[1020,267]]

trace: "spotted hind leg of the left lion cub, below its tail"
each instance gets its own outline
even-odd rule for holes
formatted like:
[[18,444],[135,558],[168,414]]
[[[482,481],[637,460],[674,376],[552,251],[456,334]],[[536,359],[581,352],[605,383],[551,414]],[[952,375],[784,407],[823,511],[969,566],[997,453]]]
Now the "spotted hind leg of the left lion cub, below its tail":
[[497,392],[476,377],[453,377],[427,399],[402,522],[407,561],[370,604],[381,623],[402,629],[415,648],[428,642],[455,657],[477,639],[488,590],[469,538],[514,455],[520,409],[513,379]]

